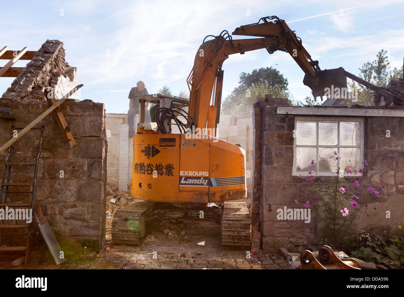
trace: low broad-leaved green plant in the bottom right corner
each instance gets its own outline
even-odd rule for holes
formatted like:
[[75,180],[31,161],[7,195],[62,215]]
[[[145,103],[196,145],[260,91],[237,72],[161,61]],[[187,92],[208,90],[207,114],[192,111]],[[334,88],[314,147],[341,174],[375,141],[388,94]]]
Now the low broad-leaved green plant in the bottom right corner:
[[387,235],[387,243],[381,236],[376,236],[373,241],[366,242],[368,247],[361,247],[359,251],[353,251],[352,257],[375,263],[377,267],[387,269],[404,268],[404,241],[401,236]]

